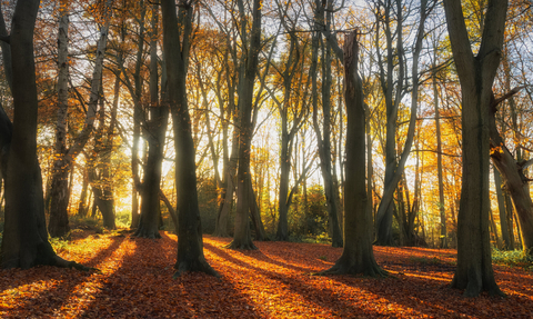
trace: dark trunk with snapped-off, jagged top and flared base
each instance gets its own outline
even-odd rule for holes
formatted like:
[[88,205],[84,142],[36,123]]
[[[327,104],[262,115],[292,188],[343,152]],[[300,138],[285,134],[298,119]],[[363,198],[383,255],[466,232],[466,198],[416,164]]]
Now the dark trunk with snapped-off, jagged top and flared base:
[[341,258],[323,273],[385,276],[372,250],[372,216],[366,203],[365,111],[358,76],[358,31],[344,41],[344,96],[346,102],[346,165],[344,181],[344,248]]

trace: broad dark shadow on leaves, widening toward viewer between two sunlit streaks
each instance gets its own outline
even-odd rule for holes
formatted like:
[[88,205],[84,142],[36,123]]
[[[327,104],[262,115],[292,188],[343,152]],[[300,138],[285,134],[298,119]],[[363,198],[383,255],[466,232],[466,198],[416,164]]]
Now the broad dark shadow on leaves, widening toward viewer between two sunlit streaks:
[[80,317],[261,317],[231,282],[201,272],[185,272],[173,280],[177,241],[161,236],[135,239],[134,252],[124,257]]

